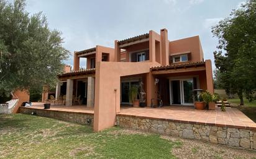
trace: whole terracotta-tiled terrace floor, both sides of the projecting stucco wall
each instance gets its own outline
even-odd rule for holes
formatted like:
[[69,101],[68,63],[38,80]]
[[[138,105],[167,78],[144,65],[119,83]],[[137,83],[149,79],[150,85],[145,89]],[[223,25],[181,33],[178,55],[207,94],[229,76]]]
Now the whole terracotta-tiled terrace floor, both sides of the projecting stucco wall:
[[[43,110],[43,103],[32,103],[32,107],[21,109]],[[94,114],[94,108],[86,107],[86,105],[51,105],[51,108],[45,111],[48,113],[57,111]],[[192,106],[163,106],[163,108],[121,106],[121,111],[117,113],[117,116],[256,130],[256,123],[236,108],[226,108],[226,111],[223,112],[220,108],[216,108],[216,110],[196,110]]]

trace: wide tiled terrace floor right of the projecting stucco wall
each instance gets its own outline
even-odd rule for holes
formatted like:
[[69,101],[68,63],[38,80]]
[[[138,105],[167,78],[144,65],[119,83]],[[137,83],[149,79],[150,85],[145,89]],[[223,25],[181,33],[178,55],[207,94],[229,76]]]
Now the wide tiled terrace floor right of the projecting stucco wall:
[[171,121],[256,129],[256,123],[236,108],[196,110],[192,106],[164,106],[163,108],[123,107],[119,115],[142,118],[166,119]]

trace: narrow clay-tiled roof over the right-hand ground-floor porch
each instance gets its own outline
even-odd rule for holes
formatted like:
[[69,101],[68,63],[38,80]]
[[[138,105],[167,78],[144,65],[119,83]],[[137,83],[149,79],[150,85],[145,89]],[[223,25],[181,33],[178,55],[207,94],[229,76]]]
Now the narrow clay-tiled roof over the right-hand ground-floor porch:
[[160,70],[166,70],[166,69],[178,69],[181,67],[196,67],[196,66],[204,66],[205,62],[185,62],[185,63],[180,63],[180,64],[170,64],[167,66],[155,66],[155,67],[150,67],[150,71],[160,71]]

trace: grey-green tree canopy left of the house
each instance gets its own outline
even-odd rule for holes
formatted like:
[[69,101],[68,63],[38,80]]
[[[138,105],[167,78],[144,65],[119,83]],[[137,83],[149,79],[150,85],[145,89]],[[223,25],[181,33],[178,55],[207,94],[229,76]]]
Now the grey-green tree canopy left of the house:
[[0,98],[16,89],[55,85],[69,51],[42,12],[30,15],[25,1],[0,0]]

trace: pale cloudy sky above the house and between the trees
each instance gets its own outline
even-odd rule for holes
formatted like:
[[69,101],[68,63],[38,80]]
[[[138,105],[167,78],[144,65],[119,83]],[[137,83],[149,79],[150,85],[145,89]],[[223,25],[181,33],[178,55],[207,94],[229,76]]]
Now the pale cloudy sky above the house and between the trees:
[[[9,0],[9,2],[13,2]],[[42,11],[49,27],[62,32],[63,46],[71,52],[64,61],[73,66],[73,52],[96,45],[114,47],[114,40],[134,37],[149,30],[167,28],[168,39],[199,35],[204,59],[213,58],[218,40],[211,26],[237,9],[242,0],[27,0],[30,14]],[[86,66],[84,58],[80,66]],[[215,68],[213,64],[213,68]]]

